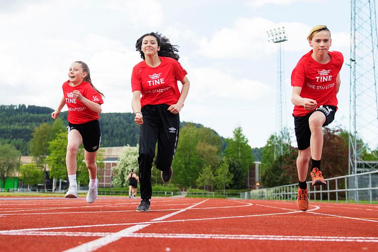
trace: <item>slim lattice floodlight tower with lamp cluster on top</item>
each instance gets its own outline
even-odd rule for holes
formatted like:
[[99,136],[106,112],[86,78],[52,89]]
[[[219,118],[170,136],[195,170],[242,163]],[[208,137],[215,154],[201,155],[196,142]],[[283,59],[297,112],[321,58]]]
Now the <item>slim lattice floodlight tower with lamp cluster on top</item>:
[[277,44],[277,95],[276,95],[276,133],[274,159],[289,151],[289,132],[286,120],[286,91],[284,85],[283,69],[283,42],[287,41],[285,28],[277,28],[267,31],[268,41]]

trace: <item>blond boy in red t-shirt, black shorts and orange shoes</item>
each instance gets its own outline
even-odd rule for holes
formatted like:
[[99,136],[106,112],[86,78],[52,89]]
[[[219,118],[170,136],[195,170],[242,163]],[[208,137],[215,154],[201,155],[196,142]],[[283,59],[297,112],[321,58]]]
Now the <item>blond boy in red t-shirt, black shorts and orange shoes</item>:
[[326,184],[320,169],[323,127],[333,121],[337,110],[339,71],[344,62],[342,53],[328,51],[332,40],[327,26],[314,26],[307,39],[313,49],[299,60],[291,74],[291,101],[295,105],[293,117],[298,143],[297,205],[303,211],[309,207],[306,178],[310,159],[312,185]]

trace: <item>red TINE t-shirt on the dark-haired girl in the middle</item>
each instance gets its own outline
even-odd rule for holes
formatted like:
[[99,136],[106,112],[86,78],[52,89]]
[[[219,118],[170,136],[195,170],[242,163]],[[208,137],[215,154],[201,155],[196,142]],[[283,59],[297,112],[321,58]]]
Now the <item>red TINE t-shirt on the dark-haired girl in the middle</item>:
[[177,81],[182,81],[187,75],[181,64],[169,57],[159,57],[160,65],[157,67],[148,66],[141,61],[133,68],[131,75],[132,91],[140,91],[140,105],[156,105],[177,103],[180,98],[180,91]]

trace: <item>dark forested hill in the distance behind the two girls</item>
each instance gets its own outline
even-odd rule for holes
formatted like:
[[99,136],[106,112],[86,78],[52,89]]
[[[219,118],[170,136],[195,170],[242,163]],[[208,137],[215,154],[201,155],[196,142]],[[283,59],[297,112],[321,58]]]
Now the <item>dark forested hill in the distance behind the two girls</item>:
[[[11,143],[22,155],[29,153],[29,141],[35,127],[53,123],[49,107],[34,105],[0,105],[0,143]],[[59,115],[65,125],[67,112]],[[135,146],[139,141],[139,127],[132,113],[102,113],[100,115],[101,146]],[[181,127],[186,123],[181,123]],[[196,126],[201,126],[196,124]]]

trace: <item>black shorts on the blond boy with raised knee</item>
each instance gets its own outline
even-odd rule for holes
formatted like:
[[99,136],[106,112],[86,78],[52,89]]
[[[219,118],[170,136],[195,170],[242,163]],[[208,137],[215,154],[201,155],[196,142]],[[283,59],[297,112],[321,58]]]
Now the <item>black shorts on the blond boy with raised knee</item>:
[[[324,127],[333,121],[336,113],[336,106],[322,105],[315,111],[320,111],[325,115],[325,122],[323,124]],[[309,125],[309,118],[315,111],[307,114],[306,116],[294,116],[296,142],[298,144],[298,150],[300,151],[306,150],[310,146],[311,130]]]

